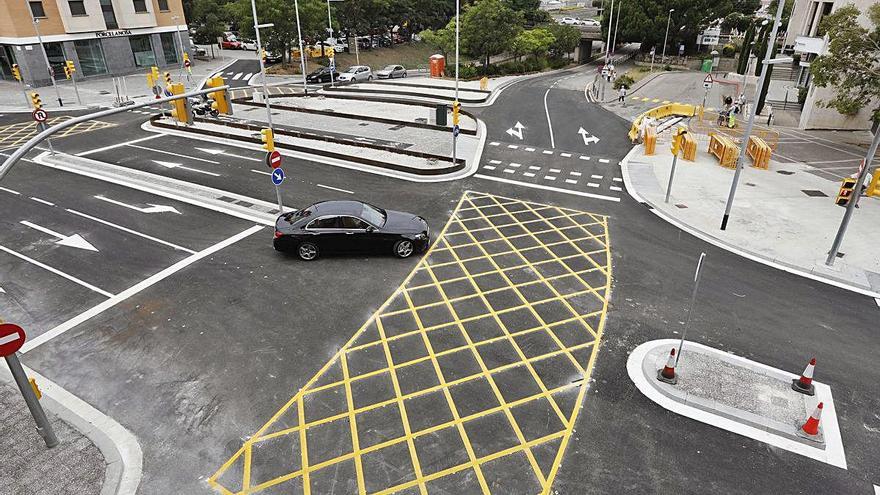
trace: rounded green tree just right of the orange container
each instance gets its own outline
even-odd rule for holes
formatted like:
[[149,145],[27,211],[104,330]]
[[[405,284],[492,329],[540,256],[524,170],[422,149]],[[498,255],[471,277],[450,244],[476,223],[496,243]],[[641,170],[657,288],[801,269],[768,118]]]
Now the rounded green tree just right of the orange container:
[[523,16],[501,0],[477,0],[461,16],[461,48],[489,68],[489,58],[509,50],[522,31]]

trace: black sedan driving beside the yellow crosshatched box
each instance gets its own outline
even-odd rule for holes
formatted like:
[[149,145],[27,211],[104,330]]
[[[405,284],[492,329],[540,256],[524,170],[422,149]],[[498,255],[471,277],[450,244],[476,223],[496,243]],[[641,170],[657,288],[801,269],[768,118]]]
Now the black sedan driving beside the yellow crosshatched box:
[[311,261],[321,253],[391,253],[407,258],[430,244],[424,218],[360,201],[323,201],[275,222],[277,251]]

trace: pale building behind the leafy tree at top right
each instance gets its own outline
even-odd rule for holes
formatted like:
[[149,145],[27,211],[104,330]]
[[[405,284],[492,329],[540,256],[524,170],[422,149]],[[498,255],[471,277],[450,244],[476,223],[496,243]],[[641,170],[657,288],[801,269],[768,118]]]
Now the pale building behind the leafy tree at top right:
[[868,7],[877,0],[795,0],[794,9],[788,22],[785,37],[785,48],[800,55],[800,71],[797,77],[798,86],[807,88],[807,99],[801,110],[800,125],[802,129],[849,129],[862,130],[871,128],[871,109],[876,103],[868,102],[855,115],[843,115],[834,108],[825,108],[823,100],[834,97],[835,88],[820,88],[812,83],[810,64],[816,57],[824,55],[828,50],[828,37],[822,32],[822,19],[835,10],[853,4],[862,15],[859,23],[870,27],[867,17]]

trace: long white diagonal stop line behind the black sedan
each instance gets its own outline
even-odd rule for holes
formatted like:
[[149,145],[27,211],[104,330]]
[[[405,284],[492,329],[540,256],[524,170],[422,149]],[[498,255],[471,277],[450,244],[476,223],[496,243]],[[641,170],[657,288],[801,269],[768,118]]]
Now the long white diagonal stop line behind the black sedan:
[[[250,227],[249,229],[247,229],[243,232],[240,232],[240,233],[238,233],[228,239],[225,239],[223,241],[218,242],[217,244],[214,244],[213,246],[211,246],[207,249],[199,251],[198,253],[196,253],[192,256],[188,256],[188,257],[178,261],[177,263],[169,266],[168,268],[162,270],[161,272],[147,278],[146,280],[144,280],[142,282],[139,282],[139,283],[133,285],[132,287],[120,292],[119,294],[116,294],[115,296],[111,295],[110,299],[107,299],[106,301],[102,302],[101,304],[99,304],[99,305],[97,305],[97,306],[95,306],[95,307],[93,307],[83,313],[80,313],[77,316],[74,316],[73,318],[65,321],[64,323],[58,325],[57,327],[53,328],[52,330],[49,330],[48,332],[41,334],[41,335],[38,335],[36,338],[29,340],[28,342],[25,343],[24,347],[21,348],[20,352],[22,354],[24,354],[26,352],[34,350],[35,348],[45,344],[46,342],[49,342],[50,340],[54,339],[55,337],[70,330],[71,328],[76,327],[80,323],[83,323],[84,321],[87,321],[91,318],[94,318],[95,316],[103,313],[104,311],[112,308],[113,306],[116,306],[117,304],[121,303],[122,301],[125,301],[126,299],[138,294],[139,292],[143,291],[144,289],[147,289],[147,288],[155,285],[156,283],[161,282],[162,280],[170,277],[171,275],[174,275],[175,273],[179,272],[180,270],[183,270],[184,268],[188,267],[189,265],[192,265],[193,263],[195,263],[203,258],[211,256],[212,254],[216,253],[217,251],[220,251],[221,249],[223,249],[225,247],[231,246],[232,244],[235,244],[236,242],[238,242],[238,241],[240,241],[240,240],[242,240],[242,239],[244,239],[244,238],[246,238],[256,232],[259,232],[261,230],[263,230],[262,226],[254,225],[253,227]],[[0,246],[0,248],[2,248],[2,246]]]

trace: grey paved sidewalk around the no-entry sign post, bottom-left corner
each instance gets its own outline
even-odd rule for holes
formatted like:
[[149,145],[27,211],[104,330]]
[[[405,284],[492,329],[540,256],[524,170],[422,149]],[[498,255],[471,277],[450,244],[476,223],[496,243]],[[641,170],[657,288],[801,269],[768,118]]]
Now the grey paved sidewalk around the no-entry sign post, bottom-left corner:
[[[2,365],[0,365],[2,366]],[[0,381],[0,493],[101,493],[105,462],[89,438],[49,413],[59,444],[47,449],[21,393]]]

